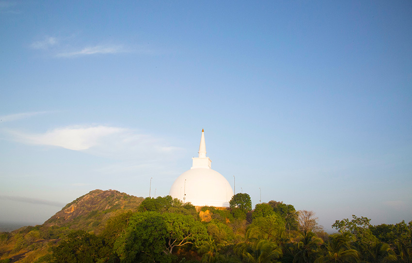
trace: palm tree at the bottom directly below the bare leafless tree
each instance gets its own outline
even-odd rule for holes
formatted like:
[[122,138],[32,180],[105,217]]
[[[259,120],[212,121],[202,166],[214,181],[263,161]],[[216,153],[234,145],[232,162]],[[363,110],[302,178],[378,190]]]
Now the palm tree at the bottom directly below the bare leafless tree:
[[314,232],[308,231],[301,234],[301,241],[298,243],[299,251],[293,258],[293,263],[314,262],[320,244],[322,244],[322,239],[318,238]]

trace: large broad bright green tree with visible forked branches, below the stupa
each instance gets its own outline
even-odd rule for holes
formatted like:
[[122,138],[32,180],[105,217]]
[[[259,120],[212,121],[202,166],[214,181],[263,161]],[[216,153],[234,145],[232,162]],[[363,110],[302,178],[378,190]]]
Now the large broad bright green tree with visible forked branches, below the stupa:
[[172,261],[175,247],[204,240],[205,226],[191,215],[142,212],[130,218],[126,233],[115,242],[122,262]]

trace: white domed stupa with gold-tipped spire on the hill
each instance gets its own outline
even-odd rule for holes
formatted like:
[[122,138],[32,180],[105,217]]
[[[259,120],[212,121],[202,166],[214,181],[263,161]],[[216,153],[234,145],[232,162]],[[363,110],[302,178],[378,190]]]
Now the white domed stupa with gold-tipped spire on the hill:
[[206,157],[205,133],[202,130],[199,157],[193,157],[190,170],[181,174],[170,188],[169,195],[194,206],[229,207],[233,190],[220,173],[212,170],[212,161]]

